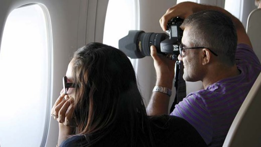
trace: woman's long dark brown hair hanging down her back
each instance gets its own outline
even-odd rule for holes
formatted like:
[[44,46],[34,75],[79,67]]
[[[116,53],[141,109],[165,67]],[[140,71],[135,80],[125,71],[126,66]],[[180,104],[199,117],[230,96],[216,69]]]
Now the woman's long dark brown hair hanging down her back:
[[136,74],[127,56],[98,42],[79,48],[73,57],[75,115],[79,134],[99,134],[98,142],[110,132],[121,130],[130,145],[154,146],[150,121]]

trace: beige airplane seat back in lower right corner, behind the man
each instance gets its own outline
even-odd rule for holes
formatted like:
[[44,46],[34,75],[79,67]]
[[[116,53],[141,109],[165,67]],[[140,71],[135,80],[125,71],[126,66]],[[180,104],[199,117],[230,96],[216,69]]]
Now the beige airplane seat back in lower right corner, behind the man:
[[261,146],[261,72],[237,112],[223,147]]

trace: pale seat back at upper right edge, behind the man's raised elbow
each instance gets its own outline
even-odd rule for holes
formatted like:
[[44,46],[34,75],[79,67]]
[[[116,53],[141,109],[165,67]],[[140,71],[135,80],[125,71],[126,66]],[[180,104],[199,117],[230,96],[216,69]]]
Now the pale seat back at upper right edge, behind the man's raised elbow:
[[252,43],[253,50],[261,61],[261,8],[254,9],[247,18],[246,33]]

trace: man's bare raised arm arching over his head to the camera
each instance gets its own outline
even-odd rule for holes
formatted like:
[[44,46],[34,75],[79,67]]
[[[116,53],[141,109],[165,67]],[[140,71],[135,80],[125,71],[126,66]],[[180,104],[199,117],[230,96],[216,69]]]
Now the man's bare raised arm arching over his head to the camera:
[[218,7],[218,6],[213,6],[213,5],[205,5],[205,4],[199,4],[195,2],[181,2],[173,7],[169,8],[166,13],[161,17],[160,19],[160,24],[162,29],[165,31],[167,29],[167,23],[168,20],[170,20],[173,17],[179,16],[183,19],[191,15],[192,13],[202,11],[202,10],[218,10],[226,15],[230,16],[232,21],[234,22],[234,25],[236,27],[237,31],[237,43],[244,43],[252,47],[252,44],[250,42],[250,39],[245,31],[245,28],[243,24],[240,22],[239,19],[237,19],[235,16],[233,16],[230,12],[227,10]]

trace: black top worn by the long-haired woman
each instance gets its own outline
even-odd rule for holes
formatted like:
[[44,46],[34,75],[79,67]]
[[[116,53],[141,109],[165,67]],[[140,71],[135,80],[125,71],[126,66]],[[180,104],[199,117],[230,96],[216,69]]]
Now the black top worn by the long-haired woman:
[[[185,119],[178,116],[161,115],[150,116],[155,146],[207,146],[197,130]],[[95,135],[74,135],[66,139],[61,147],[87,146]],[[130,146],[127,135],[119,131],[113,131],[92,146]],[[84,145],[85,144],[85,145]],[[149,143],[148,143],[149,144]],[[137,142],[137,146],[144,146]]]

